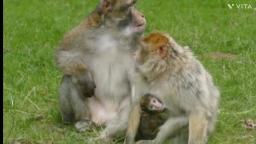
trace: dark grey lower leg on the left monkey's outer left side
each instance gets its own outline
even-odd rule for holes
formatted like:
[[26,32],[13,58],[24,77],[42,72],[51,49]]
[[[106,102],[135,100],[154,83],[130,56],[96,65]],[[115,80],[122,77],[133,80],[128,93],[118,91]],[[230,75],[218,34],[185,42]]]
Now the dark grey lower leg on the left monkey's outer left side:
[[62,121],[68,124],[75,122],[74,111],[69,99],[70,97],[69,85],[70,85],[70,82],[69,82],[68,76],[63,76],[60,87],[59,87],[59,99],[60,99],[59,108],[61,111]]

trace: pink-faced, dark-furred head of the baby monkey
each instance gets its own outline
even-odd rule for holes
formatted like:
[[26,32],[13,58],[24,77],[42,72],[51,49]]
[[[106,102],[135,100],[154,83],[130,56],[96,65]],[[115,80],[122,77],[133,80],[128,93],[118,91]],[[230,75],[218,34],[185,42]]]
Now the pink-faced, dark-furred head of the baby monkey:
[[151,94],[145,94],[140,99],[140,107],[143,111],[163,111],[163,103]]

